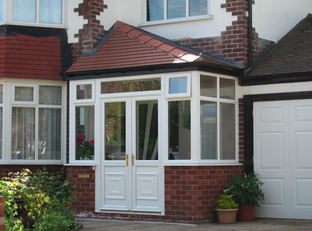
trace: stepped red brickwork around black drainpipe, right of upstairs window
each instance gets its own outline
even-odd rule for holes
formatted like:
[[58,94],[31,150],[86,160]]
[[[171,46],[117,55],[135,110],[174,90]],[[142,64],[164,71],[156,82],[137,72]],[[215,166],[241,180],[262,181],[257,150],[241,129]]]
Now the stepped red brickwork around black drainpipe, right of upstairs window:
[[[252,2],[253,4],[254,1]],[[223,58],[234,59],[234,62],[243,62],[244,66],[248,63],[248,11],[247,0],[226,0],[221,4],[226,12],[232,12],[232,16],[237,16],[236,21],[232,21],[231,26],[227,26],[226,31],[221,32],[221,36],[206,38],[185,38],[182,44],[192,44],[192,48],[201,48],[202,51],[212,51],[212,55],[223,55]],[[262,55],[262,51],[271,46],[271,41],[261,39],[253,31],[253,59]]]

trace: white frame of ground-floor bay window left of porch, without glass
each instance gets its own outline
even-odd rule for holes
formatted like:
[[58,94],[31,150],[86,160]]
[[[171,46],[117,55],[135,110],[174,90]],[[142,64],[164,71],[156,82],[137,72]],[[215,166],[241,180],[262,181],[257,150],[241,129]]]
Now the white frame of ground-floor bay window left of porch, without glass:
[[[32,83],[29,83],[32,82]],[[1,84],[1,83],[0,83]],[[6,86],[6,87],[5,87]],[[15,86],[34,86],[34,101],[15,101]],[[61,105],[39,105],[39,86],[61,86],[62,87],[62,104]],[[6,89],[11,89],[11,94],[6,97]],[[36,92],[36,93],[35,93]],[[3,84],[3,102],[6,111],[3,111],[4,119],[8,121],[3,125],[3,134],[8,134],[3,137],[2,143],[7,144],[2,146],[2,162],[3,163],[14,163],[14,164],[64,164],[66,163],[66,83],[56,82],[56,81],[40,81],[38,83],[28,80],[28,81],[18,81],[18,82],[7,82],[6,85]],[[6,103],[7,102],[7,103]],[[12,107],[29,107],[35,108],[35,159],[12,159]],[[61,109],[61,160],[39,160],[38,159],[38,132],[39,132],[39,108],[59,108]],[[5,155],[3,155],[5,153]],[[1,160],[0,160],[1,161]]]

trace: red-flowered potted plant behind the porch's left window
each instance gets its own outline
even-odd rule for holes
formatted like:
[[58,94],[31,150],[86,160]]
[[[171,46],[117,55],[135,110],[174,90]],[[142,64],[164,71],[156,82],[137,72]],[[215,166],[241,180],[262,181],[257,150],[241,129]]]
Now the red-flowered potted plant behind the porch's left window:
[[76,155],[81,160],[92,160],[94,159],[94,140],[86,141],[85,135],[77,137]]

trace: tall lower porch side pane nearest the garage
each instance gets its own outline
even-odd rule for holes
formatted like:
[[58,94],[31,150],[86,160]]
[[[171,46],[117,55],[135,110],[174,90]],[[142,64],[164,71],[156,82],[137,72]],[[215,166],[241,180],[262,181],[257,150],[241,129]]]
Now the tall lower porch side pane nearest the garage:
[[235,104],[220,103],[220,158],[235,160]]

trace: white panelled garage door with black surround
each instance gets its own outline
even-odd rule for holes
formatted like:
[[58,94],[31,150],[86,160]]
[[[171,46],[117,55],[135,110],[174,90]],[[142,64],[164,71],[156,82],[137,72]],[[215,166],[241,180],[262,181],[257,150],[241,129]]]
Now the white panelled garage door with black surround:
[[312,100],[254,102],[256,217],[312,219]]

